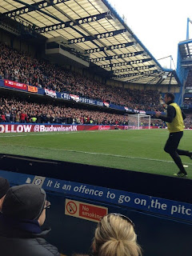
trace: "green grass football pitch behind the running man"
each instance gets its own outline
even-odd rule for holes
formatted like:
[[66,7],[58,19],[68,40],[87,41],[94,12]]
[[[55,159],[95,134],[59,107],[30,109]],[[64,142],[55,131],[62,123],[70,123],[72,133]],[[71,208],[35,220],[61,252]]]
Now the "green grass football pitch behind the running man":
[[[178,167],[163,150],[168,135],[160,129],[0,134],[0,153],[172,176]],[[192,150],[192,130],[184,131],[179,148]],[[182,162],[192,178],[192,161],[182,156]]]

